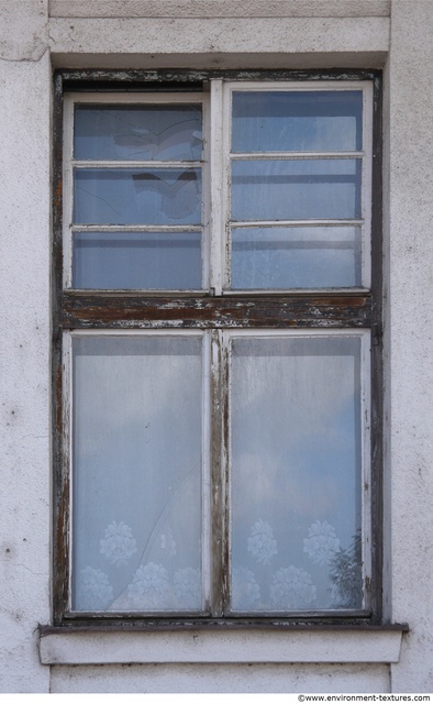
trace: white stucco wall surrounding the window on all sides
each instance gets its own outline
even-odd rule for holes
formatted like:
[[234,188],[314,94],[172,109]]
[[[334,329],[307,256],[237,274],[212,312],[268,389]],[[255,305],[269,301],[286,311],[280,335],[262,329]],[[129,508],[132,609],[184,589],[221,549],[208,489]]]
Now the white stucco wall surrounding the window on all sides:
[[[431,0],[0,0],[0,691],[433,691],[432,37]],[[338,663],[319,637],[300,641],[307,663],[290,654],[299,636],[284,635],[282,657],[258,632],[267,664],[229,664],[210,646],[206,662],[188,662],[188,637],[184,659],[138,664],[136,652],[158,650],[146,634],[129,667],[114,663],[132,648],[127,634],[119,648],[103,637],[110,664],[96,664],[81,635],[47,639],[41,663],[36,626],[51,618],[52,65],[385,68],[385,597],[388,619],[410,626],[401,652],[392,635],[360,654],[356,634],[343,647],[332,632]]]

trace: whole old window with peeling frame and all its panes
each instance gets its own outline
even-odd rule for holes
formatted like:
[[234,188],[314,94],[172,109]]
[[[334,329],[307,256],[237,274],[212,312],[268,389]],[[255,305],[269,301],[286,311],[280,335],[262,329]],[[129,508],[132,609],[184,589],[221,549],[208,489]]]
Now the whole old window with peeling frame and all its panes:
[[377,619],[377,77],[127,76],[57,78],[56,618]]

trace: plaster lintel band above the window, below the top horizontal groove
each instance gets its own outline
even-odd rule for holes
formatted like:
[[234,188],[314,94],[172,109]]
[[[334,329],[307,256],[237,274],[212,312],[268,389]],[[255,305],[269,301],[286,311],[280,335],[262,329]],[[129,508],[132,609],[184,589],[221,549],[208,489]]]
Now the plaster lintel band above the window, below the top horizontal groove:
[[67,67],[367,67],[384,62],[389,18],[53,18],[49,36]]

